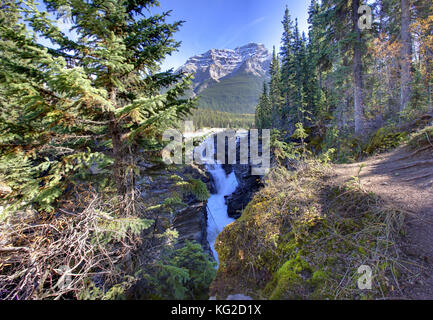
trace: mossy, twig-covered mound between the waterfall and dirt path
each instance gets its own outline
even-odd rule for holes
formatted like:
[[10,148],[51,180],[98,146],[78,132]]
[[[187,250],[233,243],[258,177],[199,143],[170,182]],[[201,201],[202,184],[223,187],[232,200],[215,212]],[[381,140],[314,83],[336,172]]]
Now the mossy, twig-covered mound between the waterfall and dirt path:
[[[356,181],[334,185],[329,168],[309,161],[274,168],[242,217],[217,239],[213,293],[264,299],[373,299],[398,290],[395,239],[403,215]],[[358,289],[358,268],[373,271]],[[232,275],[236,274],[236,278]]]

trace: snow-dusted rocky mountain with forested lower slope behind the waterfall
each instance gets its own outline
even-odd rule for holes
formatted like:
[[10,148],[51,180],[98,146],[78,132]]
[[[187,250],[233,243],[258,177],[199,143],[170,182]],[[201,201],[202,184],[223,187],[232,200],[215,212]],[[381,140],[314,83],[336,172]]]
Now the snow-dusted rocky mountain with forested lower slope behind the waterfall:
[[201,97],[199,108],[254,113],[271,59],[263,44],[249,43],[195,55],[176,72],[194,75],[191,95]]

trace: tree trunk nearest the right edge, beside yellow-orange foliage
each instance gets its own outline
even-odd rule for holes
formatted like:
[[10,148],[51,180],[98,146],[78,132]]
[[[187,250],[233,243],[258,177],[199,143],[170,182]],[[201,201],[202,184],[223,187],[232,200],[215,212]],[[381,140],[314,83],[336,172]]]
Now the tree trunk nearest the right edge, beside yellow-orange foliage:
[[401,84],[400,111],[407,108],[411,95],[412,41],[409,32],[410,0],[401,0]]

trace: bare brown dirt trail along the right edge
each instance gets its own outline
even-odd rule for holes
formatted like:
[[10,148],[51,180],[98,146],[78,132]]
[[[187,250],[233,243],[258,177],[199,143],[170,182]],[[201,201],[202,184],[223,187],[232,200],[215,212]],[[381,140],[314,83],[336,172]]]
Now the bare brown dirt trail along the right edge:
[[414,153],[407,147],[364,162],[335,165],[343,183],[359,175],[362,186],[406,213],[406,234],[400,247],[410,260],[410,276],[398,298],[433,299],[433,148]]

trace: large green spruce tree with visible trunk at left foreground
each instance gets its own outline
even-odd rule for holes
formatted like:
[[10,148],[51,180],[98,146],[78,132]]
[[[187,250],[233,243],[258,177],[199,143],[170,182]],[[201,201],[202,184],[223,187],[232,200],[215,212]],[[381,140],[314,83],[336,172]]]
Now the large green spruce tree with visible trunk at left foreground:
[[[5,114],[16,114],[1,118],[2,158],[40,163],[33,172],[40,186],[37,199],[26,199],[45,204],[83,168],[111,163],[119,210],[130,213],[137,153],[160,148],[159,133],[194,106],[194,100],[180,98],[189,78],[159,72],[164,57],[179,47],[173,35],[182,22],[167,23],[169,12],[150,14],[159,5],[155,0],[47,0],[45,5],[56,18],[69,19],[77,37],[61,32],[32,1],[18,2],[19,22],[2,23],[0,50],[7,54],[1,59],[0,90],[8,99],[1,103]],[[53,46],[37,43],[24,22]]]

